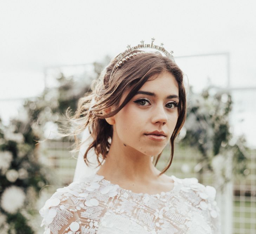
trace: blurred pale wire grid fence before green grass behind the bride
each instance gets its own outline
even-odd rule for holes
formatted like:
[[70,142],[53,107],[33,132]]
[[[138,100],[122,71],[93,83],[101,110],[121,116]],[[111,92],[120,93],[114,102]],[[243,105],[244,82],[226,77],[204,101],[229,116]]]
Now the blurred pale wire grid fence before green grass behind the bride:
[[[44,146],[47,153],[47,165],[51,166],[59,177],[58,184],[54,184],[48,190],[48,196],[55,192],[56,188],[68,185],[73,181],[76,159],[71,157],[69,150],[72,142],[48,141]],[[157,164],[162,170],[170,156],[167,146]],[[196,177],[204,185],[215,186],[215,178],[212,173],[198,174],[195,166],[200,155],[191,148],[180,148],[176,144],[175,156],[171,167],[166,174],[175,175],[178,178]],[[249,174],[240,179],[235,179],[230,189],[217,191],[217,203],[221,209],[222,233],[252,234],[256,233],[256,152],[252,151],[248,158]],[[232,194],[233,192],[233,194]],[[227,206],[231,202],[231,207]],[[229,209],[229,210],[226,210]],[[231,217],[227,217],[229,215]],[[229,231],[227,231],[229,230]]]

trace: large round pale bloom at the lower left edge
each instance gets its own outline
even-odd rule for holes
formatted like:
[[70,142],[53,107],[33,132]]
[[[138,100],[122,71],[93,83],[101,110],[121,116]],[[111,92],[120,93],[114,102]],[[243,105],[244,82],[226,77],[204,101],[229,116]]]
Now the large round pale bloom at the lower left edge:
[[5,189],[0,204],[6,212],[15,214],[23,206],[25,198],[24,191],[13,185]]

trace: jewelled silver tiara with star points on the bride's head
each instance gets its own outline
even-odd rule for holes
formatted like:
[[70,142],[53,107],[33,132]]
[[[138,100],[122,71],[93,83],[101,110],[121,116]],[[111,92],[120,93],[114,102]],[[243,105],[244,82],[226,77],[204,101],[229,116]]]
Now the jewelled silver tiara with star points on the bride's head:
[[137,52],[137,53],[133,53],[133,54],[130,54],[128,56],[125,56],[126,54],[129,54],[131,53],[132,51],[136,51],[137,49],[140,49],[140,48],[152,48],[152,49],[157,49],[158,51],[164,53],[168,58],[170,58],[172,61],[174,61],[174,58],[173,58],[173,51],[171,52],[168,52],[166,51],[166,49],[163,47],[163,43],[160,44],[160,46],[157,46],[157,45],[153,45],[154,41],[156,39],[155,38],[151,38],[151,44],[144,44],[144,40],[141,40],[140,41],[140,44],[138,44],[137,46],[133,46],[131,47],[131,45],[127,45],[127,49],[120,55],[118,55],[117,57],[117,65],[116,67],[120,67],[123,65],[123,63],[127,60],[129,60],[130,58],[132,58],[133,56],[136,56],[137,54],[144,54],[144,53],[147,53],[145,51],[140,51],[140,52]]

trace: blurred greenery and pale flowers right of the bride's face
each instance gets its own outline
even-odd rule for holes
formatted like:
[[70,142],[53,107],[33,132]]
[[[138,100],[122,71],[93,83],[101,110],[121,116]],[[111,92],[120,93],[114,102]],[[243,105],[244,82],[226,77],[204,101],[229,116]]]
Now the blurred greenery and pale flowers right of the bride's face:
[[247,171],[246,142],[243,136],[232,135],[231,108],[228,92],[208,87],[201,94],[195,94],[190,88],[186,121],[179,134],[181,145],[201,153],[195,172],[201,175],[207,170],[214,172],[220,188],[233,175],[246,175]]

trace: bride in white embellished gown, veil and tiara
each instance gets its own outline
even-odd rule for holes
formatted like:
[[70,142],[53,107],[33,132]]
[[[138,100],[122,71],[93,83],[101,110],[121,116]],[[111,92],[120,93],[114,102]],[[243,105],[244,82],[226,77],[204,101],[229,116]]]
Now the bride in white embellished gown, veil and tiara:
[[[79,100],[70,121],[74,136],[86,132],[78,144],[83,160],[74,182],[40,209],[45,234],[220,233],[215,188],[164,174],[186,94],[172,52],[154,40],[128,45]],[[170,160],[160,172],[155,165],[168,143]]]

